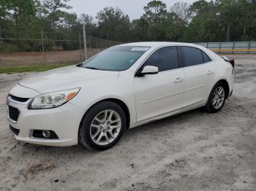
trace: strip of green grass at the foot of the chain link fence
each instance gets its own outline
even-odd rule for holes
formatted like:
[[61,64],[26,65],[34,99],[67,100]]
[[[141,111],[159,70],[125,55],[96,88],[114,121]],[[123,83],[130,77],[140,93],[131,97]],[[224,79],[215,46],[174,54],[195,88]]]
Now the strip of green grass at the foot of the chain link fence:
[[71,63],[35,64],[21,66],[0,66],[0,74],[13,74],[20,72],[47,71],[60,67],[72,65]]

